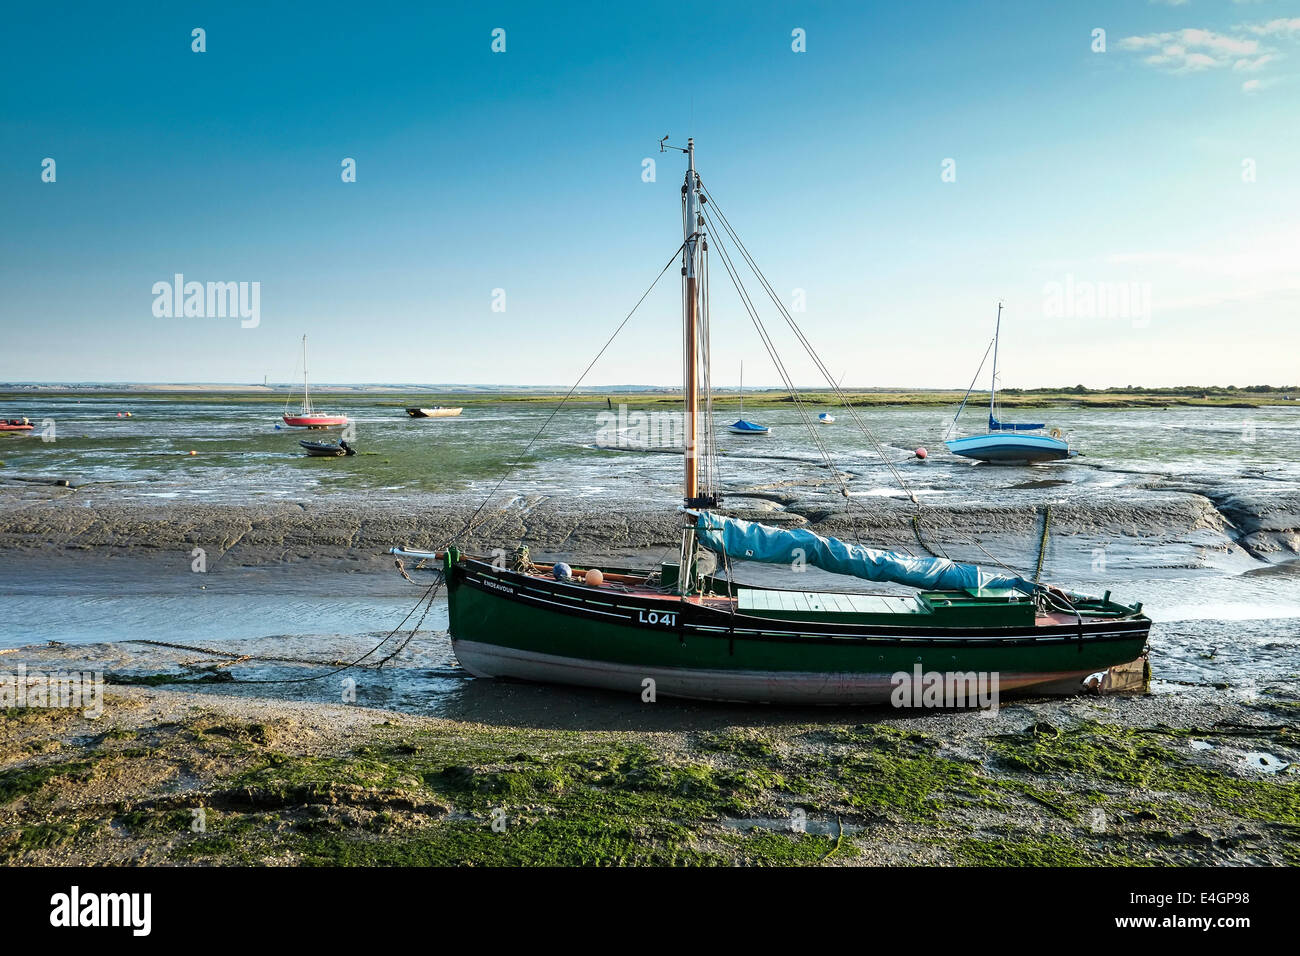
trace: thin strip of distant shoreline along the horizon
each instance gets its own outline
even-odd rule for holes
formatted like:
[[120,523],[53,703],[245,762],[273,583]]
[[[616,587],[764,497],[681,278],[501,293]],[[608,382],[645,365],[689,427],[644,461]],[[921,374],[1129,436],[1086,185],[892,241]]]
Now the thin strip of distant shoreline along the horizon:
[[[185,397],[194,402],[251,403],[274,401],[294,394],[294,385],[0,385],[0,401],[22,402],[43,398],[88,399],[140,399]],[[317,394],[329,394],[348,405],[377,407],[404,407],[407,405],[499,405],[554,403],[567,389],[551,386],[507,385],[313,385]],[[963,389],[844,389],[848,399],[857,406],[952,406],[966,395]],[[976,405],[987,395],[971,392]],[[811,405],[840,405],[840,398],[827,390],[801,392],[802,401]],[[679,405],[681,392],[670,388],[620,385],[581,389],[568,399],[571,405]],[[714,403],[737,405],[737,389],[715,389]],[[745,402],[751,407],[781,407],[792,405],[784,389],[748,389]],[[1266,406],[1300,407],[1300,386],[1273,388],[1268,385],[1232,386],[1180,386],[1180,388],[1115,388],[1087,389],[1082,386],[1061,389],[1001,389],[998,403],[1004,407],[1075,406],[1091,408],[1152,408],[1173,406],[1217,406],[1226,408],[1260,408]]]

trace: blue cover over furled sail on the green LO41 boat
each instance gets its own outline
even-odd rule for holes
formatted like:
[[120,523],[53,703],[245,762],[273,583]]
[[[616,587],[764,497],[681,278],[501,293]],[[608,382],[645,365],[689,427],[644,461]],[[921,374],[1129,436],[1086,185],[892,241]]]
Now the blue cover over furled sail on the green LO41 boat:
[[975,591],[978,588],[1015,588],[1034,592],[1034,583],[1023,578],[996,575],[975,564],[958,564],[948,558],[914,558],[910,554],[881,551],[850,545],[811,531],[768,528],[738,518],[723,518],[707,511],[693,511],[699,542],[714,551],[744,561],[790,564],[796,551],[809,564],[833,574],[864,578],[868,581],[893,581],[923,591]]

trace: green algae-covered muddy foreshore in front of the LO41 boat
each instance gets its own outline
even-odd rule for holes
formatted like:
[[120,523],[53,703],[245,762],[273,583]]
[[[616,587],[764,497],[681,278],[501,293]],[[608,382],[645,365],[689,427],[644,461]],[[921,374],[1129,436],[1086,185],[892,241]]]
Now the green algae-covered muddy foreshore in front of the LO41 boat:
[[[135,758],[200,766],[203,792],[107,817],[43,804],[44,819],[5,831],[0,857],[66,853],[110,825],[161,844],[166,860],[246,865],[818,865],[861,857],[880,839],[866,834],[881,831],[967,865],[1149,865],[1243,852],[1300,862],[1294,836],[1278,849],[1275,838],[1240,832],[1242,821],[1257,821],[1269,835],[1300,834],[1300,780],[1196,762],[1186,741],[1210,734],[1292,743],[1287,728],[1039,723],[968,741],[956,756],[941,737],[887,721],[663,743],[447,722],[380,724],[350,752],[318,756],[290,752],[285,724],[198,714],[101,734],[95,745],[139,737],[147,745],[104,757],[114,767]],[[0,804],[92,773],[94,761],[0,771]],[[205,806],[205,832],[190,830],[191,799]],[[855,835],[732,829],[793,809],[842,818]]]

